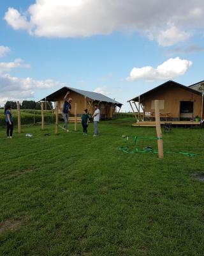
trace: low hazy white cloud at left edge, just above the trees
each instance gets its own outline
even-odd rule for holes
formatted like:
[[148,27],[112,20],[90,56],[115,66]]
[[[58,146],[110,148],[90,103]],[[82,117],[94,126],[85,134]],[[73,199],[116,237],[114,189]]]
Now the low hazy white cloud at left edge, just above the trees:
[[0,104],[4,104],[6,100],[23,100],[34,97],[35,90],[54,88],[60,83],[52,79],[35,80],[31,77],[18,78],[12,77],[10,74],[0,76]]

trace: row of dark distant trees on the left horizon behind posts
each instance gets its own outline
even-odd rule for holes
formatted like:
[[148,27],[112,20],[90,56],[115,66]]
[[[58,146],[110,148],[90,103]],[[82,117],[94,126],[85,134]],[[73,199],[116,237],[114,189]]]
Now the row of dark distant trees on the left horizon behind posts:
[[[53,109],[52,103],[50,102],[46,102],[47,106],[45,106],[45,102],[44,102],[44,109]],[[4,108],[6,106],[10,105],[12,109],[17,109],[17,102],[15,101],[7,101],[6,104],[4,105]],[[34,100],[24,100],[21,104],[20,104],[20,108],[21,109],[41,109],[41,105],[39,102],[35,102]]]

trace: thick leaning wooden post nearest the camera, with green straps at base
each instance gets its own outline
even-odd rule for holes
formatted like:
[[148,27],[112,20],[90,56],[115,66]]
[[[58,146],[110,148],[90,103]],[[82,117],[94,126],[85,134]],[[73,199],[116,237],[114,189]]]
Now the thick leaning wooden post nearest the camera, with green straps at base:
[[157,131],[157,145],[158,145],[158,157],[163,158],[163,137],[161,132],[160,114],[159,114],[159,100],[154,100],[155,108],[155,120],[156,120],[156,131]]

